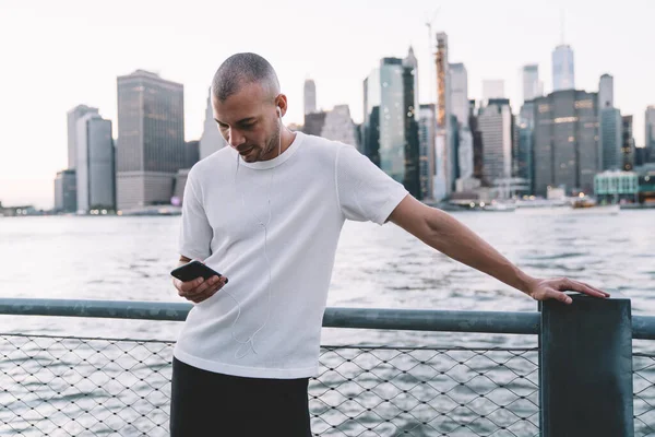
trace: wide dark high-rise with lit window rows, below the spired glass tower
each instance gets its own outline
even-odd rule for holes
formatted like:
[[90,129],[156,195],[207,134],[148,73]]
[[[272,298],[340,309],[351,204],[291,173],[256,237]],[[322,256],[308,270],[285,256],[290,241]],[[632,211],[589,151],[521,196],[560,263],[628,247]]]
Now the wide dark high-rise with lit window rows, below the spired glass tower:
[[592,192],[600,162],[598,94],[565,90],[534,102],[535,193],[561,186]]

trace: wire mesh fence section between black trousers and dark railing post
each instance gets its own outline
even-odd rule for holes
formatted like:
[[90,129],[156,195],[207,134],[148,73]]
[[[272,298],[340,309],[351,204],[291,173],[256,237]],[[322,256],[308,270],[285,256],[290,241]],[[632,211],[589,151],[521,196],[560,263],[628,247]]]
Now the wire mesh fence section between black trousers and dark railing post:
[[319,436],[537,436],[537,350],[323,347]]

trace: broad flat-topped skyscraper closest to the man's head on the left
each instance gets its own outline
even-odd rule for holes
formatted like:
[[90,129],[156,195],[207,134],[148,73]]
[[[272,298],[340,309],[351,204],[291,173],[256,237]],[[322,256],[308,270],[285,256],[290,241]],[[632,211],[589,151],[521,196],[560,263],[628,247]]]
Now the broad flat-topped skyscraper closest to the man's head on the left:
[[155,73],[119,76],[118,209],[170,204],[184,165],[184,90]]

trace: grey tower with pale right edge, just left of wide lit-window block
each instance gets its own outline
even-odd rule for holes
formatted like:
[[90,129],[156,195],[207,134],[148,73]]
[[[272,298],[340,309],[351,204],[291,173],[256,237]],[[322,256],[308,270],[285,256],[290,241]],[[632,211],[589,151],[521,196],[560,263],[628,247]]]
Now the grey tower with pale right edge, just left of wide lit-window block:
[[483,178],[493,185],[496,179],[512,177],[513,116],[510,101],[491,98],[478,115],[483,135]]

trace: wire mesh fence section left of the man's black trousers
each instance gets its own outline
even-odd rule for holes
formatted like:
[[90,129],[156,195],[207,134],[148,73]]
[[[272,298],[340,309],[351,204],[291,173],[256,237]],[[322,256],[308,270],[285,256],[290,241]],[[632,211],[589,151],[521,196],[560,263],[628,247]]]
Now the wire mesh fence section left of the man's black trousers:
[[0,435],[168,435],[171,344],[0,335]]

